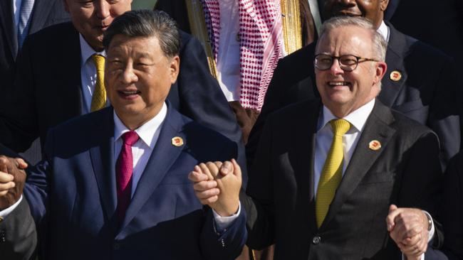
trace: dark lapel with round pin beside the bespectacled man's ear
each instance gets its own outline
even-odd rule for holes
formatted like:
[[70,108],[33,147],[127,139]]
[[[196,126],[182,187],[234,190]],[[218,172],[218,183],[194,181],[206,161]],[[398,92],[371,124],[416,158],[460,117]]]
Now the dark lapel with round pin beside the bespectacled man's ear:
[[[387,26],[390,30],[386,52],[387,72],[381,81],[383,87],[381,88],[378,99],[387,107],[392,107],[407,80],[407,72],[405,70],[405,64],[403,63],[403,57],[405,55],[403,50],[407,50],[408,48],[405,35],[395,30],[390,23],[387,23]],[[394,80],[397,79],[397,77],[393,75],[397,72],[401,75],[400,80]]]

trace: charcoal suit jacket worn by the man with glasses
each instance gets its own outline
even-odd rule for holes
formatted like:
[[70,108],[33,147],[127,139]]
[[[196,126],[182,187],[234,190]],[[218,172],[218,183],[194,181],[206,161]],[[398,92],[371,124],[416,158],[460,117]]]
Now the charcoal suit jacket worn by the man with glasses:
[[[389,205],[435,214],[442,171],[437,136],[378,100],[321,227],[316,227],[313,156],[320,102],[266,120],[247,193],[248,245],[275,243],[275,259],[400,259],[385,218]],[[368,148],[378,140],[381,148]],[[437,237],[437,239],[440,239]]]

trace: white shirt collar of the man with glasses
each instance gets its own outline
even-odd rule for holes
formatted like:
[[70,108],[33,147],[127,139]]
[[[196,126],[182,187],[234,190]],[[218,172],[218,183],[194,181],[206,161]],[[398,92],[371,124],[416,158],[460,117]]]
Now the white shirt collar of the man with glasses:
[[[363,127],[365,126],[365,122],[367,121],[368,116],[370,116],[371,112],[373,111],[373,107],[375,107],[375,99],[370,100],[370,102],[354,110],[347,116],[343,117],[343,119],[349,121],[349,123],[352,126],[354,126],[357,131],[361,132],[363,131]],[[330,109],[328,109],[324,105],[322,109],[322,117],[320,118],[323,121],[321,121],[320,124],[318,124],[318,130],[325,127],[329,121],[333,119],[338,119],[333,115],[333,113],[331,113]]]

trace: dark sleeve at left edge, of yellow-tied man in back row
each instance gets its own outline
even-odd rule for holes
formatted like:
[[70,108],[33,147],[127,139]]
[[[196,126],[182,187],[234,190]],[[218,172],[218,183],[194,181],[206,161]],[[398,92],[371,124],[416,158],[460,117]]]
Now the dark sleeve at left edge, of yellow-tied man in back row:
[[31,69],[30,41],[26,38],[16,60],[16,80],[0,95],[0,142],[16,152],[25,151],[38,137]]

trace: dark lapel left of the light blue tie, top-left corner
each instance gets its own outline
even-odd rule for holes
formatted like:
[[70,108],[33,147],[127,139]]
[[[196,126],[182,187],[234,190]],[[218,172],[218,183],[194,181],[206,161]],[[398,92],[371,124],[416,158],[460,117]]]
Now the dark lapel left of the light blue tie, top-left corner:
[[3,27],[6,43],[9,45],[11,56],[16,60],[18,53],[18,40],[16,39],[16,26],[14,23],[13,6],[11,0],[0,1],[0,26]]

